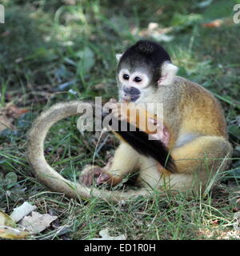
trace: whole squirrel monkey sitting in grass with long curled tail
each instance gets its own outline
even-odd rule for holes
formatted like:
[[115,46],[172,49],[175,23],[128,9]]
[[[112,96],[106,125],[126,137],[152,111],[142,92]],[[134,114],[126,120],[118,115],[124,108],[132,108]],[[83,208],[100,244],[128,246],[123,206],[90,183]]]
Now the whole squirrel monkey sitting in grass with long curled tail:
[[[114,112],[121,102],[128,103],[126,108],[151,103],[153,107],[145,112],[145,118],[161,127],[153,134],[157,140],[147,139],[150,132],[142,132],[138,120],[136,132],[114,132],[121,143],[105,167],[86,166],[81,183],[70,182],[47,164],[43,143],[50,126],[78,114],[78,105],[84,103],[59,103],[43,112],[30,130],[27,157],[34,173],[51,190],[73,198],[97,196],[119,201],[147,195],[152,188],[162,192],[198,191],[202,186],[204,190],[209,178],[226,168],[232,154],[218,101],[202,86],[176,76],[178,67],[156,42],[138,41],[116,57],[119,102],[110,102],[110,107]],[[162,113],[154,107],[158,103],[163,106]],[[130,124],[128,114],[123,119]],[[131,173],[138,174],[141,189],[122,192],[90,187],[94,178],[98,184],[115,186]]]

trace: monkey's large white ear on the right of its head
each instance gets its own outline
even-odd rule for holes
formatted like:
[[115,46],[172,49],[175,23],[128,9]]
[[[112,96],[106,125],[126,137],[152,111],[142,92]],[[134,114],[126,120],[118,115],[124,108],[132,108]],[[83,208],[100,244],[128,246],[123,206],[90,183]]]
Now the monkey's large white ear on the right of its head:
[[178,66],[174,66],[170,62],[162,64],[161,78],[158,80],[159,86],[168,86],[174,82],[175,75],[178,72]]

